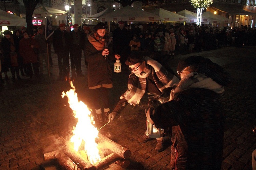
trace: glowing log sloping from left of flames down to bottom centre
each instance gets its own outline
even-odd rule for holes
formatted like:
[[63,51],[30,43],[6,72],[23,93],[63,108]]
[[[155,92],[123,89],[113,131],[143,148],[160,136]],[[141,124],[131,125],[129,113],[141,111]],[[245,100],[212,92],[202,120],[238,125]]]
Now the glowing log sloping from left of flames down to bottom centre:
[[96,170],[96,167],[93,166],[88,160],[83,159],[79,153],[71,149],[68,142],[63,137],[58,138],[58,142],[65,155],[67,155],[80,169]]

